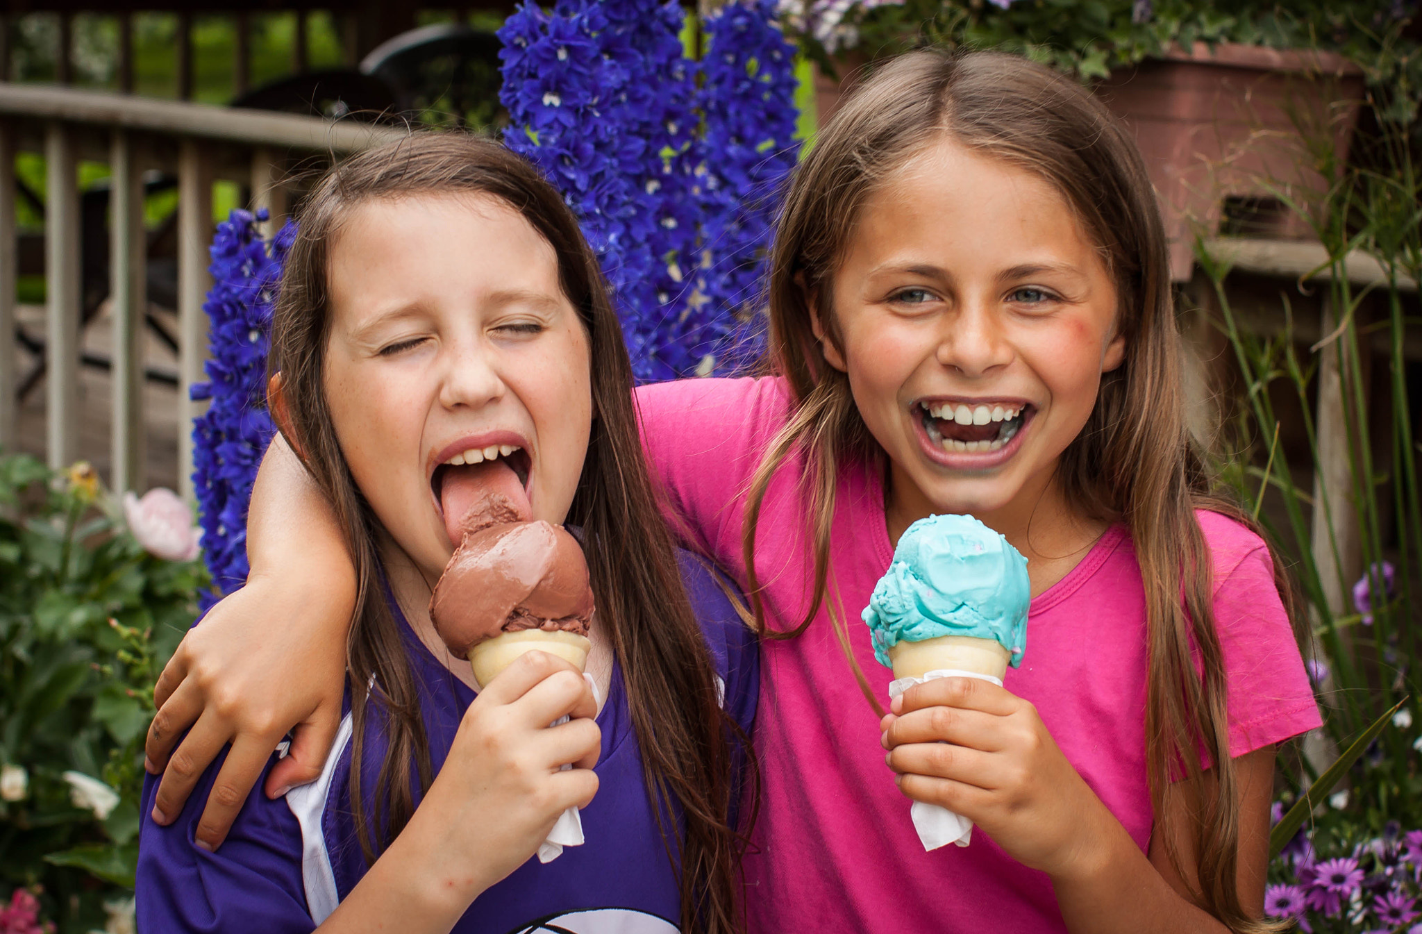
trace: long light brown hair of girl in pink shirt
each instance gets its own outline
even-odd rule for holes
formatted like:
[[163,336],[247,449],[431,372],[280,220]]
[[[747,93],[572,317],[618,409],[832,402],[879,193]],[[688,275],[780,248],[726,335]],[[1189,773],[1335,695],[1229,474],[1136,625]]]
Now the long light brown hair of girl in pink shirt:
[[[786,378],[798,405],[749,486],[742,543],[752,610],[764,630],[755,533],[765,490],[786,458],[795,451],[806,458],[815,598],[798,626],[768,633],[782,638],[802,633],[833,587],[829,532],[839,462],[883,465],[848,377],[825,363],[812,320],[818,313],[825,340],[842,351],[828,297],[859,212],[904,162],[943,139],[1052,183],[1115,280],[1125,363],[1103,375],[1091,418],[1062,453],[1058,479],[1075,509],[1123,522],[1135,543],[1148,614],[1152,803],[1165,813],[1177,793],[1172,776],[1203,778],[1206,789],[1193,826],[1196,897],[1231,930],[1276,930],[1249,917],[1237,891],[1239,780],[1229,749],[1210,556],[1194,510],[1212,509],[1256,530],[1257,523],[1212,492],[1186,429],[1182,347],[1155,193],[1135,142],[1081,85],[1012,55],[921,50],[879,68],[820,129],[791,183],[772,254],[771,368]],[[811,307],[813,296],[818,308]],[[1293,613],[1293,591],[1277,560],[1276,581]],[[833,601],[826,608],[842,630],[842,610],[836,614]],[[1212,769],[1202,768],[1199,751]],[[1169,834],[1165,844],[1179,867]]]

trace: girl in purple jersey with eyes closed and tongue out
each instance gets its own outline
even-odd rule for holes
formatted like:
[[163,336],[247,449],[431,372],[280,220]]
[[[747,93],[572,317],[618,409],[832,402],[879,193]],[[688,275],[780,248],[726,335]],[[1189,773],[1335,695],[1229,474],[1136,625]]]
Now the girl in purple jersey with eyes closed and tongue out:
[[[262,742],[193,776],[239,807],[220,850],[201,799],[175,809],[151,778],[139,928],[739,930],[754,637],[671,546],[617,318],[557,192],[454,134],[338,165],[300,212],[272,357],[282,434],[354,563],[340,728],[316,780],[274,799],[233,798],[233,772],[280,768]],[[528,653],[475,694],[428,610],[451,485],[580,529],[589,680]],[[586,843],[530,860],[570,806]]]

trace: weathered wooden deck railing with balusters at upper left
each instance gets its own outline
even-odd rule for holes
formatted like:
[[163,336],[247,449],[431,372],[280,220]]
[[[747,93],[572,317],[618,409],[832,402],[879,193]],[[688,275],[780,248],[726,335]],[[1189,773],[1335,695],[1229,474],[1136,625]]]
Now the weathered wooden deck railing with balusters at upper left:
[[16,154],[43,152],[46,280],[46,456],[64,466],[78,456],[81,230],[78,161],[111,171],[109,299],[114,328],[112,475],[109,486],[142,485],[144,361],[141,331],[148,307],[144,173],[178,176],[178,478],[192,495],[192,418],[202,402],[188,390],[203,381],[208,321],[208,246],[212,185],[250,186],[252,206],[284,213],[282,169],[290,158],[331,158],[404,131],[314,117],[158,101],[97,91],[0,82],[0,446],[13,448],[16,408]]

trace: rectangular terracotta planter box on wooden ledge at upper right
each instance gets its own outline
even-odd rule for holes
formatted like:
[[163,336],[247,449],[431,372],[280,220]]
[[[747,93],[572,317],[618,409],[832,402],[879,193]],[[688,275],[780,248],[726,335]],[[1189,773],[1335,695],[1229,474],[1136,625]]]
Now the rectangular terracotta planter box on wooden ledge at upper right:
[[1330,53],[1197,43],[1119,71],[1095,88],[1136,135],[1160,198],[1170,276],[1190,277],[1193,240],[1220,232],[1311,239],[1281,195],[1317,210],[1318,151],[1342,162],[1362,102],[1362,70]]

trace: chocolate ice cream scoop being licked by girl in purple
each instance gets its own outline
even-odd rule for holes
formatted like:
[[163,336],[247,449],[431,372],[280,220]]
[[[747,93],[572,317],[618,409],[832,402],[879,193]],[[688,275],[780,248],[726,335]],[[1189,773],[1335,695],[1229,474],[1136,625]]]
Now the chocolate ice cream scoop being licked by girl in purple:
[[[488,503],[469,522],[429,600],[435,630],[459,658],[501,633],[545,630],[587,635],[593,590],[577,540],[547,522],[510,522]],[[474,510],[471,510],[472,517]]]

